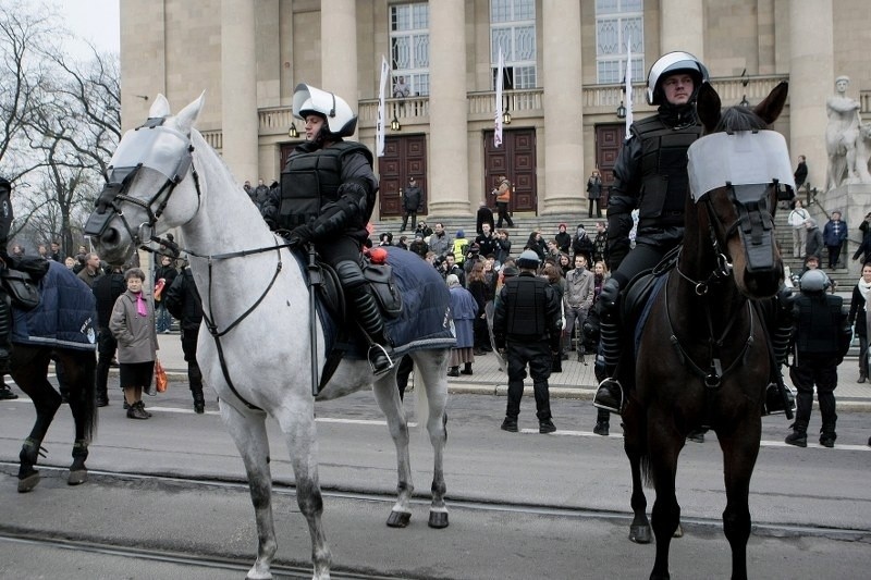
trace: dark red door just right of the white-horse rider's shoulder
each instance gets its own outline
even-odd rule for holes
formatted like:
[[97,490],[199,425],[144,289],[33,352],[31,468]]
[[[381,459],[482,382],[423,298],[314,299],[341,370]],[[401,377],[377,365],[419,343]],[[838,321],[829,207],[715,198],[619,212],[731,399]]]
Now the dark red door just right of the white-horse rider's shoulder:
[[378,158],[378,176],[380,181],[379,199],[380,217],[402,215],[402,197],[400,192],[408,185],[408,177],[415,181],[424,192],[420,200],[427,213],[427,136],[402,135],[384,137],[384,157]]

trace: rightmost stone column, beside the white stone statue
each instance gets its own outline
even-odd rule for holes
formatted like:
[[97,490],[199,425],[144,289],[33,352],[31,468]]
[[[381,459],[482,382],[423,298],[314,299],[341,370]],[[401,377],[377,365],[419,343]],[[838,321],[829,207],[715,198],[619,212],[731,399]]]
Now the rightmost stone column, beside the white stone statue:
[[[835,92],[832,0],[789,2],[789,155],[808,158],[808,183],[825,186],[825,100]],[[850,88],[855,87],[852,85]]]

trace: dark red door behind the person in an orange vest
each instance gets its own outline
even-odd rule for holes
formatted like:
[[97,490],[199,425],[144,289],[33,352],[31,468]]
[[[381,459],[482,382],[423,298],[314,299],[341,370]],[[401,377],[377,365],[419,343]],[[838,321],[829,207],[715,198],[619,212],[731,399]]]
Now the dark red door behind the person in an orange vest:
[[513,128],[502,132],[502,146],[493,147],[493,131],[483,132],[484,190],[487,205],[495,208],[491,196],[498,175],[505,175],[513,186],[508,210],[536,211],[536,129]]

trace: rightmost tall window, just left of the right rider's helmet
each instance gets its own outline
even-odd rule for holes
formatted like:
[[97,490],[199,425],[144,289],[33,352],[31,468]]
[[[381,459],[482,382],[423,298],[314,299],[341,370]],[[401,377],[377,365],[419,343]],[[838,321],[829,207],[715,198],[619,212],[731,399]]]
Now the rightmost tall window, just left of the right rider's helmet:
[[645,78],[643,0],[596,0],[596,76],[601,84],[626,76],[626,42],[631,41],[633,81]]

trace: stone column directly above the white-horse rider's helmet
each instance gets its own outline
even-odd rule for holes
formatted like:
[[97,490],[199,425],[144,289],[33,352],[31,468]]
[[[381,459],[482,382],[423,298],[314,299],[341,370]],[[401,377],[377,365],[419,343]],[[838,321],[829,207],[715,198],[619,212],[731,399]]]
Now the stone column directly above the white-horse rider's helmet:
[[[320,9],[321,85],[358,112],[357,4],[354,0],[323,0]],[[355,139],[356,137],[352,137]]]

